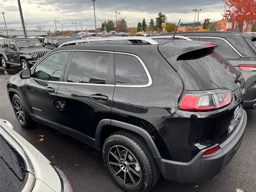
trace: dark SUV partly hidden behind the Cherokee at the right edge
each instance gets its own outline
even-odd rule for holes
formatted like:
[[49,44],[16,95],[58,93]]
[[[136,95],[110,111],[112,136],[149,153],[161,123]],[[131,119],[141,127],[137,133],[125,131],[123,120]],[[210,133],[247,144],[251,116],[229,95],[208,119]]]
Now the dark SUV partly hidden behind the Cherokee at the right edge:
[[246,81],[245,109],[256,109],[256,35],[237,32],[180,32],[192,40],[218,44],[215,51],[241,70]]

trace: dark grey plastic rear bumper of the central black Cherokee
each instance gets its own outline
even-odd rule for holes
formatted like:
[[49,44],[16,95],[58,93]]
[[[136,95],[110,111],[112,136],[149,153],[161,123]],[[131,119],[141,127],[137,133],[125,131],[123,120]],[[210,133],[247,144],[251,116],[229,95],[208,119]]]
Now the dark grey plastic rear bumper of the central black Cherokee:
[[206,148],[186,163],[155,158],[164,178],[179,183],[196,183],[216,177],[236,154],[244,136],[246,122],[247,115],[243,110],[238,127],[227,140],[220,144],[220,150],[214,154],[202,156],[209,149]]

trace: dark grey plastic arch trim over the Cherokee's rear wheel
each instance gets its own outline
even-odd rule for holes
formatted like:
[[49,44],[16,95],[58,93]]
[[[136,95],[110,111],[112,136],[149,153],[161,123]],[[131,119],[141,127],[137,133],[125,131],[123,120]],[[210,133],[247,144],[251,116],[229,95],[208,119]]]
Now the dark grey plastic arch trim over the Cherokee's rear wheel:
[[[106,131],[106,128],[111,128],[111,130]],[[95,140],[94,140],[94,146],[98,149],[102,149],[102,138],[107,138],[110,134],[116,132],[117,130],[128,130],[129,132],[133,132],[142,139],[145,140],[146,144],[150,148],[150,151],[152,152],[154,157],[161,157],[160,153],[156,147],[156,144],[154,143],[153,139],[151,138],[150,134],[146,132],[144,129],[128,124],[125,122],[117,121],[117,120],[110,120],[110,119],[104,119],[101,120],[96,128],[96,134],[95,134]],[[108,134],[106,134],[106,132]],[[104,139],[106,140],[106,139]],[[104,142],[104,141],[103,141]]]

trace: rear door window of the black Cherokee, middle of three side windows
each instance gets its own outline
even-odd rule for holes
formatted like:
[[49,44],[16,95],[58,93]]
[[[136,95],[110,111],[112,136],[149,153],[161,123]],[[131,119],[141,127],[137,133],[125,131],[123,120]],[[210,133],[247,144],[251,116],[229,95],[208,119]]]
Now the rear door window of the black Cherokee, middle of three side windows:
[[68,82],[106,84],[109,64],[109,53],[74,52]]

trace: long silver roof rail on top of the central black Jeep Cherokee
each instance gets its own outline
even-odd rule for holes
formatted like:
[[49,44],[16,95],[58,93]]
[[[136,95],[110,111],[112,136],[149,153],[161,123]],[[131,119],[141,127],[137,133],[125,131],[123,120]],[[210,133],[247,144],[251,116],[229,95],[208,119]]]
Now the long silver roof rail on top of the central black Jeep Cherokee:
[[158,42],[156,42],[153,39],[150,39],[148,37],[143,36],[132,36],[132,37],[109,37],[109,38],[92,38],[92,39],[84,39],[84,40],[74,40],[74,41],[68,41],[63,44],[61,44],[59,47],[62,47],[67,44],[76,44],[76,43],[86,43],[86,42],[96,42],[96,41],[114,41],[114,40],[140,40],[140,41],[146,41],[151,45],[159,45]]

